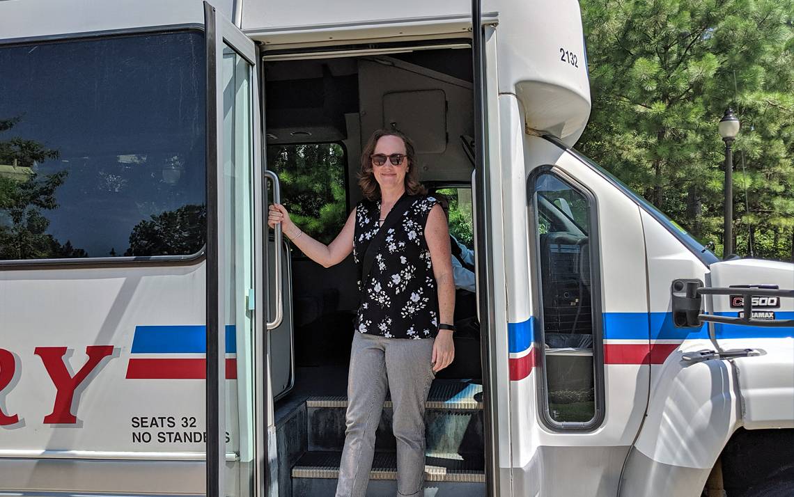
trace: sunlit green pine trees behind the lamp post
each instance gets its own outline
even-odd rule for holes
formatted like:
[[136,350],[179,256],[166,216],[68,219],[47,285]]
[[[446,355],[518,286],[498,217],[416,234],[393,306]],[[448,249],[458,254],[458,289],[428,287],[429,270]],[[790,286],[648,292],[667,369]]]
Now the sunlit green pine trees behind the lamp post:
[[794,257],[794,2],[583,0],[592,115],[579,148],[718,252],[728,106],[740,255]]

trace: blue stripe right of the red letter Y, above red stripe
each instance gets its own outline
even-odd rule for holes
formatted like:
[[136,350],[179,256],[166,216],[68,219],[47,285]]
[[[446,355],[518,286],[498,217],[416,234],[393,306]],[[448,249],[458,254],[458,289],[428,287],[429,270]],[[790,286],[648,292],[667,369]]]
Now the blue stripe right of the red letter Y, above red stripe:
[[[237,353],[235,326],[226,326],[226,353]],[[136,326],[133,354],[206,353],[206,327]]]

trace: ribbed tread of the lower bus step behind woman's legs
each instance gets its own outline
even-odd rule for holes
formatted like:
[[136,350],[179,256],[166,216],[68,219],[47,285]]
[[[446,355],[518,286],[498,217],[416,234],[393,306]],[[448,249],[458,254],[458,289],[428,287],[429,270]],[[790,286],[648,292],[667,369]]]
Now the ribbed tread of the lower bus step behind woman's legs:
[[[307,452],[292,468],[293,478],[337,479],[341,452]],[[370,480],[397,480],[395,453],[375,453]],[[482,463],[462,460],[457,454],[428,454],[425,481],[484,483]]]

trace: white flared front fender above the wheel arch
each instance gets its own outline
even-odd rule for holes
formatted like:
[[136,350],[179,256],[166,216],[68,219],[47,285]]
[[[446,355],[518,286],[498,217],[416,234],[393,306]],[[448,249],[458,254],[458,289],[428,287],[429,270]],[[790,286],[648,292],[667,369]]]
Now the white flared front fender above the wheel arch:
[[[692,341],[686,350],[711,348],[709,341]],[[653,366],[657,384],[626,461],[620,495],[700,495],[739,426],[734,365],[725,360],[689,364],[680,359],[682,352]]]

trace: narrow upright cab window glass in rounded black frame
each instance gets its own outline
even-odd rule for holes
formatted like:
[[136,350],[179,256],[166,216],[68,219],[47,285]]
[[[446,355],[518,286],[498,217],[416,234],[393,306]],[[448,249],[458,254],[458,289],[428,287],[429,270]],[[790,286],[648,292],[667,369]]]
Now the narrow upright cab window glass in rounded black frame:
[[553,424],[595,417],[592,275],[588,197],[557,175],[534,188],[542,315],[545,406]]

